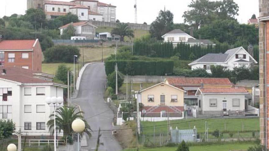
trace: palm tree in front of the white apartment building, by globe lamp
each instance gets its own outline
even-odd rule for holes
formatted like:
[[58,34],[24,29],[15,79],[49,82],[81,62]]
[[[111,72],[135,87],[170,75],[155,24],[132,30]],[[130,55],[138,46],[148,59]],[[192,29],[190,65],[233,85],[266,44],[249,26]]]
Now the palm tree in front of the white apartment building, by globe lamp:
[[[87,133],[87,135],[90,137],[90,125],[87,123],[87,121],[84,119],[83,117],[83,112],[82,111],[77,111],[77,107],[67,107],[67,106],[63,106],[63,107],[59,107],[56,110],[56,126],[57,129],[59,130],[59,133],[61,132],[61,130],[64,132],[64,137],[66,136],[71,136],[74,131],[72,130],[72,122],[76,119],[81,119],[85,122],[85,130],[84,132]],[[47,122],[47,126],[49,127],[50,130],[54,131],[54,114],[51,114],[50,117],[53,117],[52,120],[49,120]],[[80,133],[80,135],[83,135],[83,132]]]

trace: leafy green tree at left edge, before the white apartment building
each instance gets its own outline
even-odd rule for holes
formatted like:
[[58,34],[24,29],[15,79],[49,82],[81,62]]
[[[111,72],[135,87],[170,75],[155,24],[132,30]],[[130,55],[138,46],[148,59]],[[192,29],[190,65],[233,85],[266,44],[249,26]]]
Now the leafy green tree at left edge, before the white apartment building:
[[9,138],[15,132],[15,123],[12,120],[0,120],[0,139]]

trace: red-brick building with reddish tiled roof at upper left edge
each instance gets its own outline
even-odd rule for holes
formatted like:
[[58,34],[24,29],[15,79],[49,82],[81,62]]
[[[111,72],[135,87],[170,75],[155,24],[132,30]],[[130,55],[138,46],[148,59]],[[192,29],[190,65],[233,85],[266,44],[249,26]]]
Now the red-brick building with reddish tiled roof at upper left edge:
[[42,49],[39,40],[0,39],[0,65],[42,71]]

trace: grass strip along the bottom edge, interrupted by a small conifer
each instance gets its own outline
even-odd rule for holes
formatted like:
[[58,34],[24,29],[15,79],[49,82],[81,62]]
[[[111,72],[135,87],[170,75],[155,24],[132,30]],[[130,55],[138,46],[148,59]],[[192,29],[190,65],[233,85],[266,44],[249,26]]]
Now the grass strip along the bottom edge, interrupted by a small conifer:
[[[247,150],[254,143],[225,143],[225,144],[212,144],[203,146],[190,146],[190,151],[229,151],[229,150]],[[140,148],[140,151],[175,151],[177,147],[158,147],[158,148]],[[125,151],[135,151],[136,149],[126,149]]]

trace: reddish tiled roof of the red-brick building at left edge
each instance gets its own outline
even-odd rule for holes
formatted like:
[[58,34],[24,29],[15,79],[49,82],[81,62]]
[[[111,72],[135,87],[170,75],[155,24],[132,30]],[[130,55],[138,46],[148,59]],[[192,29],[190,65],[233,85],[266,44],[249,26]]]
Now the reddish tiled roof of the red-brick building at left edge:
[[35,40],[3,40],[0,42],[0,50],[31,50]]

